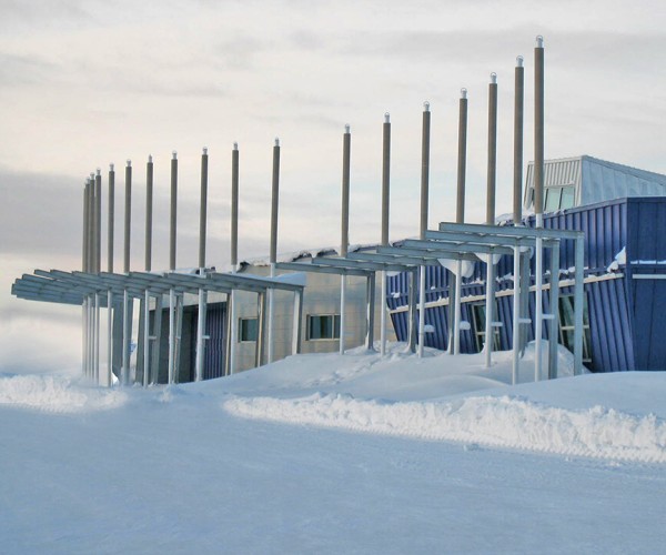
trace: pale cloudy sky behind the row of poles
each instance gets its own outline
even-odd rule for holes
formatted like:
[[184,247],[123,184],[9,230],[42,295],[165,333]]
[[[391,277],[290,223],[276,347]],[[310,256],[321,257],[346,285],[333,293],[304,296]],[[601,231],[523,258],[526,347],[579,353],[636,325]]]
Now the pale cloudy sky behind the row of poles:
[[[545,40],[546,158],[591,154],[666,173],[660,1],[0,0],[0,372],[79,364],[80,311],[19,301],[36,268],[79,269],[85,176],[134,168],[132,269],[143,264],[145,162],[155,163],[153,268],[168,265],[178,151],[178,266],[196,265],[199,164],[210,154],[209,264],[229,263],[231,149],[241,158],[241,258],[340,242],[342,134],[352,131],[350,240],[379,241],[381,141],[392,121],[391,239],[418,230],[421,112],[431,103],[430,224],[455,216],[457,103],[468,90],[465,219],[485,218],[487,83],[497,73],[497,213],[511,211],[513,74]],[[102,211],[105,212],[105,205]],[[121,262],[117,211],[115,260]],[[105,220],[102,221],[105,230]],[[105,253],[105,238],[102,241]],[[104,260],[105,256],[102,258]]]

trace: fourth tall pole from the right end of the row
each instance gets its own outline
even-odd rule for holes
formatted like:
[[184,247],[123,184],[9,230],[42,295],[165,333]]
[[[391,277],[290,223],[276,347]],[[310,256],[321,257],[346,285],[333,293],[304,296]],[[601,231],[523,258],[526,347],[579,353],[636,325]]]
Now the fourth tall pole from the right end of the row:
[[[461,100],[458,109],[458,160],[457,160],[457,195],[456,195],[456,223],[465,221],[465,180],[467,172],[467,89],[461,89]],[[453,304],[453,312],[450,312],[450,321],[453,325],[453,354],[461,352],[461,293],[462,293],[462,262],[456,261],[456,271],[453,276],[454,302],[448,302],[450,311]],[[450,287],[451,291],[451,287]]]

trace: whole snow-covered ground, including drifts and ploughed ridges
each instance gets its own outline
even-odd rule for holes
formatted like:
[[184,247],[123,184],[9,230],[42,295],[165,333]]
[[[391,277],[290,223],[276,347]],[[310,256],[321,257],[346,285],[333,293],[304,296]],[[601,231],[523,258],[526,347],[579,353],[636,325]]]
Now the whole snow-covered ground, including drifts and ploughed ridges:
[[[0,375],[0,552],[663,553],[666,374],[356,350],[103,390]],[[571,373],[562,352],[563,374]]]

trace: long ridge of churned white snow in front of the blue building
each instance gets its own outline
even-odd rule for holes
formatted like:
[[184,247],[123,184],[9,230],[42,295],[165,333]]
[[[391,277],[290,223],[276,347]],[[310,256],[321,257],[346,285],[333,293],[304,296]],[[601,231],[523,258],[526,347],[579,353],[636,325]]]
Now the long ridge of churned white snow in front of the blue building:
[[233,397],[223,408],[236,416],[291,424],[666,463],[666,421],[598,405],[569,411],[506,395],[418,403],[317,393],[296,400]]

